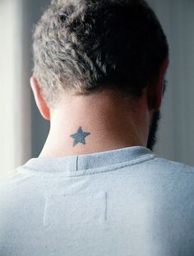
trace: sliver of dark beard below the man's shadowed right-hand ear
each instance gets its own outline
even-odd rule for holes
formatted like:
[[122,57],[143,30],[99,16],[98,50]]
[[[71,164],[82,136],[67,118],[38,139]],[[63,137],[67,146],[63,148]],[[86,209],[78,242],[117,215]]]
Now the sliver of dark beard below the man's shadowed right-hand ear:
[[150,132],[149,132],[149,137],[148,137],[147,146],[146,146],[151,151],[154,149],[155,143],[157,142],[159,119],[160,119],[160,111],[156,110],[151,119]]

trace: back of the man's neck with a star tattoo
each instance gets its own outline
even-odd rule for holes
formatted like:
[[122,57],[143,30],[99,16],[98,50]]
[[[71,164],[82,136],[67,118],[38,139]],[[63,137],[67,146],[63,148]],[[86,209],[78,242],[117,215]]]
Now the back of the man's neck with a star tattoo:
[[150,120],[142,110],[146,109],[145,100],[134,108],[130,101],[107,92],[63,97],[51,113],[50,131],[39,157],[146,146]]

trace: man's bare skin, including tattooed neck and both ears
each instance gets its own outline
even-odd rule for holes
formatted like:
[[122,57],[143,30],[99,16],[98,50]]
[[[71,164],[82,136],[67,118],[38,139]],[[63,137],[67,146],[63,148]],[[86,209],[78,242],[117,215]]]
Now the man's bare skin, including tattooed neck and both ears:
[[39,112],[44,119],[50,120],[50,131],[39,157],[146,147],[150,123],[161,105],[168,66],[166,59],[159,75],[146,86],[139,100],[119,99],[110,90],[85,96],[63,93],[58,105],[52,109],[40,94],[39,82],[31,77],[30,86]]

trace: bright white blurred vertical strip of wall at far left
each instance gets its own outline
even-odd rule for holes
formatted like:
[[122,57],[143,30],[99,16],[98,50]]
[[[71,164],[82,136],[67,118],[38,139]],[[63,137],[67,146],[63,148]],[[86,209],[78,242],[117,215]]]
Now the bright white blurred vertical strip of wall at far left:
[[0,175],[31,156],[30,88],[23,2],[0,1]]

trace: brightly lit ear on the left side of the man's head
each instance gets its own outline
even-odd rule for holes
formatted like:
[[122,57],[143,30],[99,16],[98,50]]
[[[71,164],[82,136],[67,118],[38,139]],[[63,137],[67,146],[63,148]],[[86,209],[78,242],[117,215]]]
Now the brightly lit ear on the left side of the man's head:
[[30,86],[35,97],[35,103],[44,119],[50,120],[50,110],[40,92],[39,82],[35,77],[30,77]]

